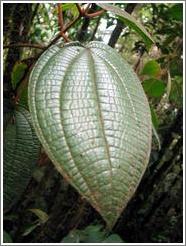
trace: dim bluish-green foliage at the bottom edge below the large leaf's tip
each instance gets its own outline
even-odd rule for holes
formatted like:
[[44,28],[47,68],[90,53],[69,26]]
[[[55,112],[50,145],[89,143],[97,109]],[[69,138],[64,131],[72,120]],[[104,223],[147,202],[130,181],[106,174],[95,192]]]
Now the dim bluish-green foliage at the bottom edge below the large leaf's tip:
[[117,234],[108,235],[102,225],[89,225],[83,230],[72,230],[62,243],[123,243]]

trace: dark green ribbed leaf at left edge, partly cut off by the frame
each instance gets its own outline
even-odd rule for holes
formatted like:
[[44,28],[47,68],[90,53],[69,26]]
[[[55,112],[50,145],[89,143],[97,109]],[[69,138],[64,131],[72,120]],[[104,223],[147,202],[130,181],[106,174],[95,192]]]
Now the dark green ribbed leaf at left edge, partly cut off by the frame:
[[4,209],[10,208],[26,188],[36,165],[39,141],[32,127],[30,113],[15,111],[4,133],[3,198]]

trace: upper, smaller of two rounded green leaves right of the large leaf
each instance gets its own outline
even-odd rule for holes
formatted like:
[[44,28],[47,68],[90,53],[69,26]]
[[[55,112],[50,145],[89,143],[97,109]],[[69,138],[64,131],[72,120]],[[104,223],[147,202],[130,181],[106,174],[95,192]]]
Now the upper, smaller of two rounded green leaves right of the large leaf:
[[155,60],[151,60],[145,64],[141,74],[156,77],[160,74],[160,72],[160,65]]

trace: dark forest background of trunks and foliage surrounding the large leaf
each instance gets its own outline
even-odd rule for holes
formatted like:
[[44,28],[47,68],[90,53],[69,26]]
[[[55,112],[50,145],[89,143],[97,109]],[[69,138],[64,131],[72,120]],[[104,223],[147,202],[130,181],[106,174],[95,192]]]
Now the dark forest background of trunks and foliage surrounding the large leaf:
[[[159,136],[159,140],[153,137],[145,175],[112,234],[108,234],[99,214],[58,174],[41,148],[18,201],[15,199],[13,205],[5,208],[6,242],[182,242],[183,6],[181,3],[116,5],[143,24],[157,46],[147,51],[144,40],[110,12],[80,18],[68,30],[68,37],[81,42],[108,42],[140,77]],[[75,4],[66,3],[62,7],[65,23],[77,17]],[[99,9],[91,4],[89,13]],[[3,109],[7,134],[8,126],[15,124],[15,108],[28,109],[27,85],[32,66],[59,29],[56,4],[4,3],[3,11]],[[25,43],[36,45],[25,47]],[[11,152],[14,145],[9,142],[8,146],[10,150],[4,151]]]

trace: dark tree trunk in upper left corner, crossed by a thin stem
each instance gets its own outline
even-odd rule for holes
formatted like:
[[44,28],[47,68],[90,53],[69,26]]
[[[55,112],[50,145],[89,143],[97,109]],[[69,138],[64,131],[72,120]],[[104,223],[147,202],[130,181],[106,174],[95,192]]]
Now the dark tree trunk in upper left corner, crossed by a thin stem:
[[[11,6],[11,10],[9,10],[9,5]],[[22,43],[28,40],[28,33],[32,24],[32,20],[36,11],[33,10],[35,5],[35,10],[38,4],[28,4],[28,3],[15,3],[3,4],[3,11],[5,13],[10,13],[9,18],[11,18],[11,22],[9,22],[7,15],[4,15],[5,26],[4,35],[5,40],[12,43]],[[6,30],[10,30],[8,36],[6,35]],[[20,60],[22,48],[12,47],[9,48],[6,61],[5,61],[5,69],[3,75],[3,84],[4,84],[4,98],[10,98],[12,93],[11,86],[11,72],[17,61]]]

